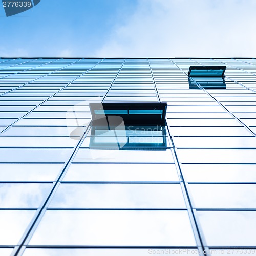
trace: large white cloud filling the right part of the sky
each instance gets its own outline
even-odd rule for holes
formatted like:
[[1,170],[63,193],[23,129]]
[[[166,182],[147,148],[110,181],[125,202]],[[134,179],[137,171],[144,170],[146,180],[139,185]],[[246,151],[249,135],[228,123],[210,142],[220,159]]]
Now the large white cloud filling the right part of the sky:
[[255,0],[139,0],[100,57],[255,57]]

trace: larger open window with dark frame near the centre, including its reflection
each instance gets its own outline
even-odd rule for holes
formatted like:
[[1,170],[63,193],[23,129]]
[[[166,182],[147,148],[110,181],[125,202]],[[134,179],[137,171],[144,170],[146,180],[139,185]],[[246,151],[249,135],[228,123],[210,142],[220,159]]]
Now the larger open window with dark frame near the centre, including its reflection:
[[90,148],[167,148],[166,103],[90,103]]

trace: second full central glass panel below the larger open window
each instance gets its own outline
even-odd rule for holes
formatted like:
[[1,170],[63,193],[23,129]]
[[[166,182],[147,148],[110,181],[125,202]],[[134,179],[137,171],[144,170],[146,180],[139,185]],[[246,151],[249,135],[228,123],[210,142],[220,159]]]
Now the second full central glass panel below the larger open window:
[[63,181],[161,182],[179,177],[175,164],[71,164]]

